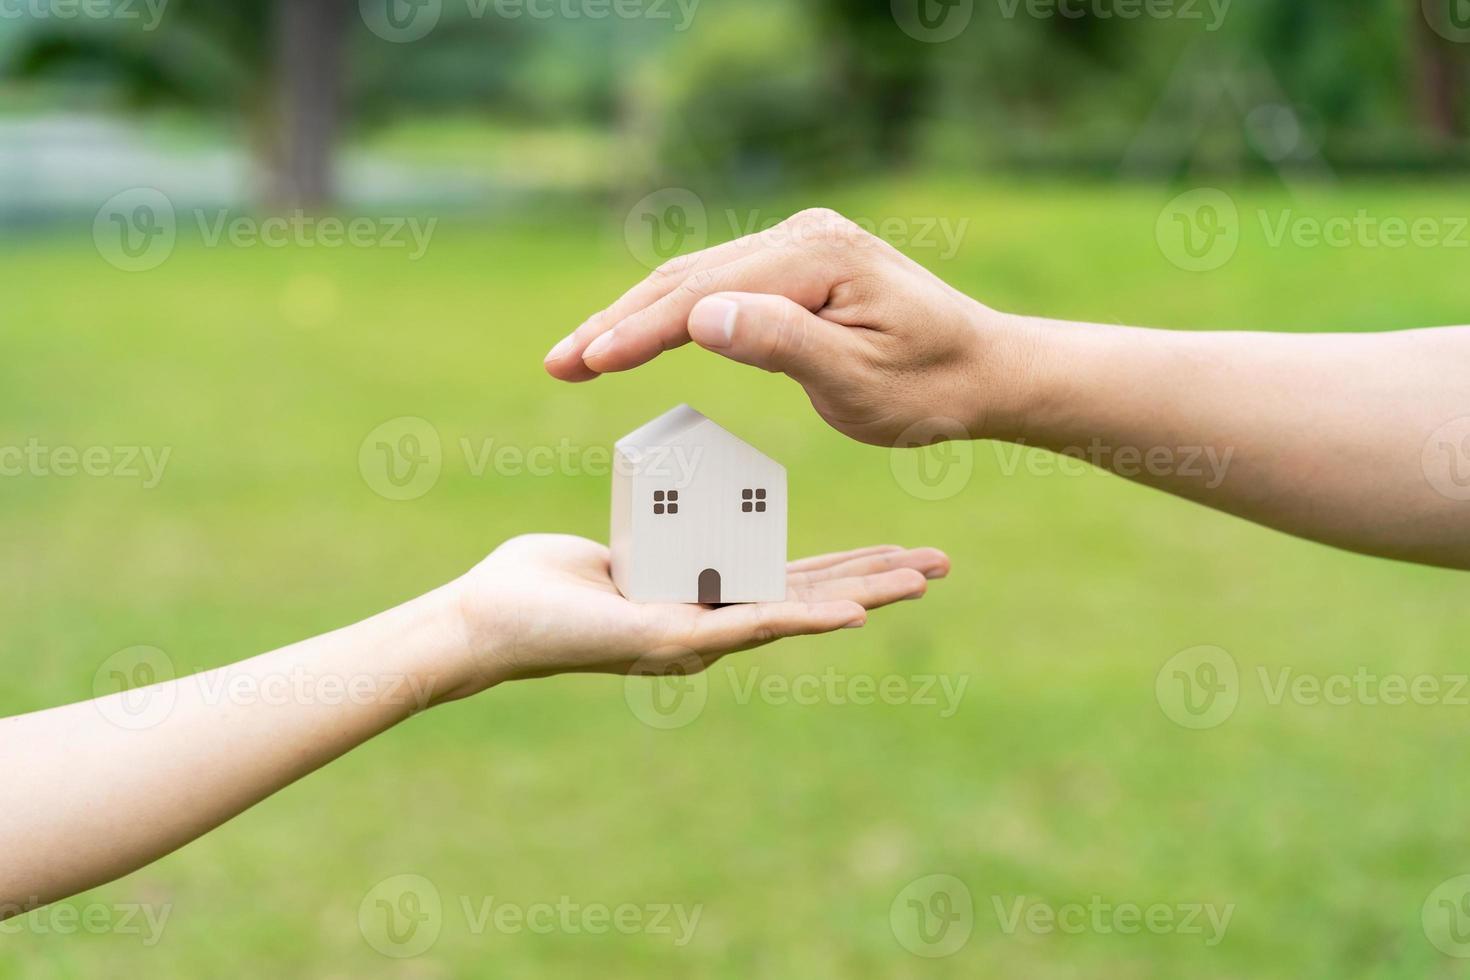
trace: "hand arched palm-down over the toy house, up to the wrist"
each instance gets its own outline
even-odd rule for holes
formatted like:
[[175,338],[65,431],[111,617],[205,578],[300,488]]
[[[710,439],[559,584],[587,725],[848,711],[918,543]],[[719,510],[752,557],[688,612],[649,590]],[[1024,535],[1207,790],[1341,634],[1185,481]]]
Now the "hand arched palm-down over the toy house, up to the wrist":
[[1007,435],[1026,332],[841,215],[814,209],[660,266],[557,344],[589,381],[688,341],[782,372],[875,445]]

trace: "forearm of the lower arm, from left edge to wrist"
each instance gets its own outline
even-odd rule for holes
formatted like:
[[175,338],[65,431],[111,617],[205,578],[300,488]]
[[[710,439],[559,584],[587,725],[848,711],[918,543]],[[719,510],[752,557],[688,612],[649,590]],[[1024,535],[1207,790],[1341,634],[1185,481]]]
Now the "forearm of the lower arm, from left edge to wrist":
[[0,720],[0,909],[143,867],[453,696],[467,682],[453,604],[432,592],[220,670]]

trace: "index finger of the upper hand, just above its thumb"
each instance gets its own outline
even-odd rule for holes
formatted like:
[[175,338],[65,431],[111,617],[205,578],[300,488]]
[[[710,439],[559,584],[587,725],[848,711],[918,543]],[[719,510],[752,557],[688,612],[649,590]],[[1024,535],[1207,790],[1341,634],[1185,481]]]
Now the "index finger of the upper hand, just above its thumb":
[[[772,248],[691,275],[676,289],[639,310],[598,336],[582,354],[595,372],[628,370],[647,363],[666,350],[686,344],[691,336],[689,314],[707,297],[722,292],[763,292],[786,297],[816,320],[831,295],[831,267],[820,257],[792,248]],[[717,307],[720,313],[726,307]],[[716,334],[726,325],[722,314],[704,317]],[[703,320],[701,320],[703,323]],[[829,334],[839,335],[833,323],[822,322]]]

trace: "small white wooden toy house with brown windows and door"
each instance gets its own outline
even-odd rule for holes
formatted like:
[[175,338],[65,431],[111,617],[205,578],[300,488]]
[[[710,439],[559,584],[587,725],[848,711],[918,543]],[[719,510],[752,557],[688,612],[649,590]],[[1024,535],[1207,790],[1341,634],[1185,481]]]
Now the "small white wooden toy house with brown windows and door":
[[786,598],[786,470],[689,406],[617,441],[613,582],[634,602]]

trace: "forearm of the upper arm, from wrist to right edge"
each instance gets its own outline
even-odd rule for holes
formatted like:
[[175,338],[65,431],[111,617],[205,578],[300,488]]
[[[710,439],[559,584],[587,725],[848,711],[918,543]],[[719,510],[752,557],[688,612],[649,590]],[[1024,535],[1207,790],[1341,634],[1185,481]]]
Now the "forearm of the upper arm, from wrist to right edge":
[[1288,533],[1470,567],[1470,504],[1444,492],[1470,483],[1455,469],[1464,433],[1426,457],[1433,433],[1470,416],[1470,328],[1289,335],[1005,319],[1029,338],[1005,436]]

